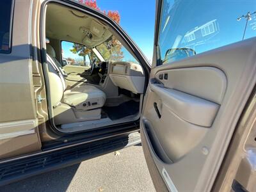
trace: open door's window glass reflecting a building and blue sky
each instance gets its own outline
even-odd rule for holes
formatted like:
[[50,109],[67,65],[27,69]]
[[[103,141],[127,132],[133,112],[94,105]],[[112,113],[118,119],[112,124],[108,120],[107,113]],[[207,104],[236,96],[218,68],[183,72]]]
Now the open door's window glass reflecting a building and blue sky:
[[256,1],[164,0],[163,64],[256,36]]

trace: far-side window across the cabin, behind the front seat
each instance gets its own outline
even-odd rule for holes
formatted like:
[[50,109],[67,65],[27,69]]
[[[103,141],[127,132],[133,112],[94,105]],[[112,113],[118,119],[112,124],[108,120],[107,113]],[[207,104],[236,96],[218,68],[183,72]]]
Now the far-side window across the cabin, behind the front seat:
[[81,44],[73,42],[61,42],[62,65],[77,65],[90,67],[92,61],[96,59],[92,49],[89,49]]

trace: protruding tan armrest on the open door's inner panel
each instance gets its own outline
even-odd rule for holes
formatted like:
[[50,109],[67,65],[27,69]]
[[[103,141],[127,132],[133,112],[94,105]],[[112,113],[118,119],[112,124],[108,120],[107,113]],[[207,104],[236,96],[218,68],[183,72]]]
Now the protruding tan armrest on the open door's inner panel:
[[[163,113],[164,108],[168,108],[168,111],[172,111],[186,122],[202,127],[211,127],[220,105],[188,93],[159,86],[159,84],[150,83],[149,87],[156,94],[154,108],[160,114]],[[158,107],[157,102],[159,103]]]

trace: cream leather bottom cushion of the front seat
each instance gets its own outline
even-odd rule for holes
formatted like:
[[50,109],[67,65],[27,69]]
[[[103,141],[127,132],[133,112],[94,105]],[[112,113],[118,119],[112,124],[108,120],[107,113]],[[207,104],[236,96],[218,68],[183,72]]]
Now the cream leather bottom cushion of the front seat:
[[95,109],[104,106],[106,94],[91,85],[77,86],[64,92],[63,102],[76,109]]

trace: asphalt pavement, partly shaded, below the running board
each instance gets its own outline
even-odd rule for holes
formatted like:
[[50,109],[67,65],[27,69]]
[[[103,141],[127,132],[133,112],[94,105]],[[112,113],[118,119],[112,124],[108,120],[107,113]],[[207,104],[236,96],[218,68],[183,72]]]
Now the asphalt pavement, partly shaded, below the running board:
[[20,180],[0,191],[155,191],[141,145]]

